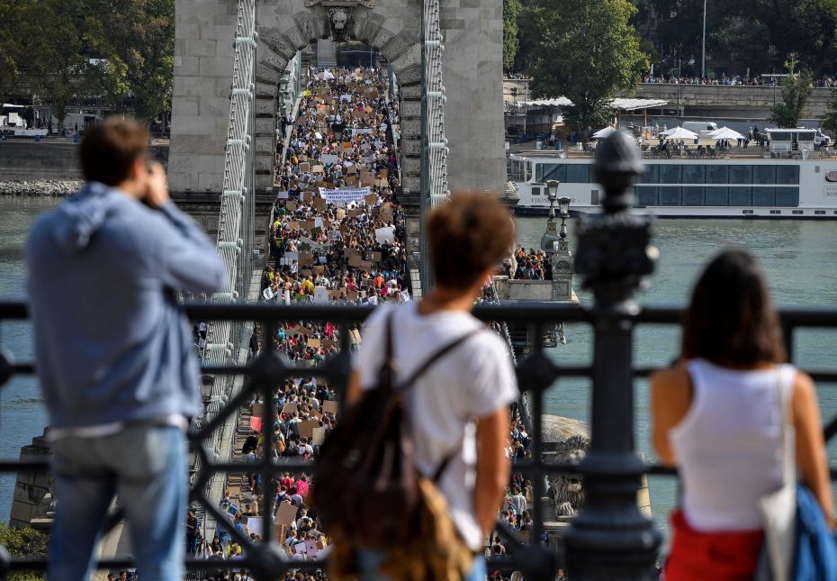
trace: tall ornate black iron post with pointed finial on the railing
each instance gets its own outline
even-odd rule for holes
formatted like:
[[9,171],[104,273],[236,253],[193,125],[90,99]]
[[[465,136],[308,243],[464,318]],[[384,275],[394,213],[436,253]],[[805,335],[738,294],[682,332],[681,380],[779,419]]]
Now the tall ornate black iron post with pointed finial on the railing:
[[568,573],[584,581],[644,581],[653,576],[661,535],[637,505],[643,461],[634,441],[633,300],[653,272],[652,222],[630,211],[642,173],[622,132],[599,146],[594,175],[604,212],[582,219],[575,270],[595,295],[592,438],[581,461],[587,503],[564,536]]

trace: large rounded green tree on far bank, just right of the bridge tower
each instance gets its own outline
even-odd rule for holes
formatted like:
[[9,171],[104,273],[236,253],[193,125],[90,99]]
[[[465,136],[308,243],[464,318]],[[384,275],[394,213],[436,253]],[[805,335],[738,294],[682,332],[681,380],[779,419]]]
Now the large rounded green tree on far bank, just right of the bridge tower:
[[629,91],[648,58],[628,19],[629,0],[530,0],[524,8],[522,36],[535,49],[528,72],[536,96],[564,95],[574,106],[568,120],[586,139],[588,129],[608,121],[608,102],[616,91]]

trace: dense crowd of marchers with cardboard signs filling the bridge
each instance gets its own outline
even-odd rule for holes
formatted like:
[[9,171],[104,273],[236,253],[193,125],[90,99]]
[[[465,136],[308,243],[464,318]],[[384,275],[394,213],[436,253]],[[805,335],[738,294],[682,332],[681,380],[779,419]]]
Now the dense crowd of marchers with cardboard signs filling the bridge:
[[[398,204],[400,181],[391,123],[397,123],[397,104],[388,84],[371,68],[311,68],[309,83],[297,114],[282,120],[276,150],[275,190],[278,191],[270,224],[270,256],[261,281],[261,300],[284,304],[382,304],[410,301],[405,250],[404,213]],[[549,277],[545,254],[522,247],[516,252],[521,277]],[[508,272],[513,275],[515,273]],[[266,349],[261,330],[254,332],[251,352]],[[205,331],[203,331],[205,332]],[[288,359],[311,367],[339,350],[338,328],[326,322],[284,322],[270,338],[270,348]],[[350,343],[360,341],[350,328]],[[202,328],[195,328],[200,342]],[[261,406],[275,406],[273,426],[260,423]],[[271,402],[256,398],[250,404],[252,433],[236,450],[246,463],[261,453],[264,433],[273,430],[273,460],[318,457],[320,444],[338,421],[337,394],[317,377],[295,377],[276,386]],[[527,433],[515,418],[509,426],[509,458],[531,454]],[[266,483],[257,471],[248,472],[238,497],[225,495],[214,538],[189,537],[189,549],[218,561],[208,567],[212,578],[236,578],[235,560],[246,550],[229,533],[238,529],[258,541],[260,531],[249,523],[261,522],[257,497],[266,486],[275,490],[272,522],[283,522],[279,532],[288,557],[322,558],[329,539],[320,531],[317,513],[307,500],[311,477],[285,473]],[[526,537],[531,527],[532,486],[515,474],[507,489],[502,517]],[[243,498],[249,499],[248,503]],[[293,518],[292,518],[293,517]],[[190,517],[191,518],[191,517]],[[188,525],[188,522],[187,522]],[[487,540],[487,556],[496,555],[497,542]],[[510,549],[503,546],[503,554]],[[223,562],[221,562],[223,561]],[[242,579],[246,572],[238,571]],[[296,575],[295,577],[293,575]],[[317,576],[293,572],[288,577],[311,581]],[[508,577],[497,577],[508,578]]]

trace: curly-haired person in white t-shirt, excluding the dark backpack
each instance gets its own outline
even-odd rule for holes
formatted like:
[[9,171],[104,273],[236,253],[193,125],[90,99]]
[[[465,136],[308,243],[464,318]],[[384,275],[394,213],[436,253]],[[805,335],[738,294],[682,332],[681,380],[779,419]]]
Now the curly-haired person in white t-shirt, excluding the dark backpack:
[[[493,529],[509,479],[505,455],[509,404],[518,386],[508,345],[471,314],[474,300],[500,259],[514,244],[509,211],[491,195],[456,194],[428,216],[436,286],[420,302],[377,309],[349,377],[348,401],[377,383],[383,343],[392,317],[393,354],[398,377],[410,377],[440,345],[460,343],[424,373],[410,389],[406,410],[416,446],[416,468],[433,475],[451,458],[438,480],[461,538],[477,554]],[[457,249],[451,252],[451,249]],[[363,540],[357,540],[363,547]],[[365,581],[382,579],[377,568],[387,554],[358,549]],[[465,581],[484,579],[485,561],[473,559]]]

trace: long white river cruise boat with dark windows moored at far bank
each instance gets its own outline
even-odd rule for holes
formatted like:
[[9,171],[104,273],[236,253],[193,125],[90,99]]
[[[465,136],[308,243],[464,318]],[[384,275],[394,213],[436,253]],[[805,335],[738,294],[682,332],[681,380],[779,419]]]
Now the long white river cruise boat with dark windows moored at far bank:
[[[813,152],[812,152],[813,153]],[[767,154],[770,155],[770,154]],[[815,159],[820,158],[820,159]],[[546,213],[546,182],[561,183],[572,211],[599,213],[602,187],[593,159],[559,151],[511,153],[509,181],[518,214]],[[635,210],[671,218],[837,219],[837,158],[733,156],[726,159],[646,159],[635,186]]]

